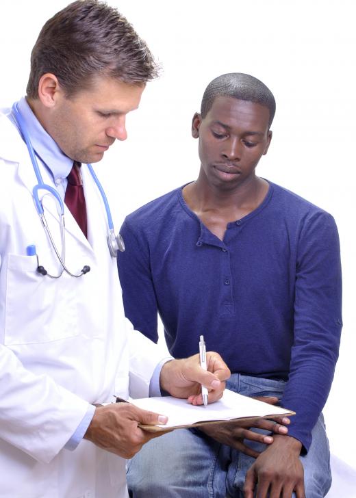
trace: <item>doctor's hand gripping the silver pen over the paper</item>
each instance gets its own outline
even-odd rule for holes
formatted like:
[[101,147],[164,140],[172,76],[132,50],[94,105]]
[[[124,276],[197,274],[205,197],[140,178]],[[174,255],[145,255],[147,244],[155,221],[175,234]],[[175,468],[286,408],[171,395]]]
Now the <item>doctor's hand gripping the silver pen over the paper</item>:
[[194,405],[203,404],[201,384],[207,387],[208,401],[212,403],[223,396],[225,380],[230,370],[220,354],[207,352],[207,371],[201,368],[199,354],[182,360],[165,363],[161,370],[160,386],[175,397],[187,398]]

